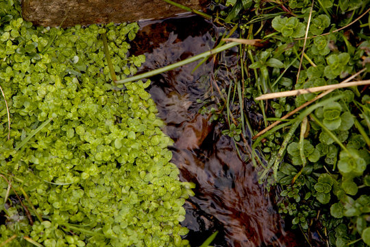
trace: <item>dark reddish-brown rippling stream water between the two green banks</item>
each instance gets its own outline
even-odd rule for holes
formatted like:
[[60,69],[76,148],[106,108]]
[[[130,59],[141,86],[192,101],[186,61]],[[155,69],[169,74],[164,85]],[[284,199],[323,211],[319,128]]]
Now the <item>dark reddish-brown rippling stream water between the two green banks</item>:
[[[132,44],[135,55],[147,57],[141,71],[212,49],[223,32],[196,16],[146,24]],[[199,246],[218,230],[214,246],[304,246],[304,241],[297,243],[301,237],[284,231],[271,194],[258,185],[254,167],[240,161],[232,140],[221,134],[225,124],[211,123],[209,114],[199,114],[203,102],[219,97],[217,86],[227,89],[236,77],[237,62],[234,49],[208,60],[193,74],[197,62],[151,78],[149,93],[167,123],[164,132],[175,141],[172,162],[179,167],[181,180],[196,185],[195,196],[184,206],[182,225],[190,229],[186,239]],[[216,66],[221,69],[214,75]]]

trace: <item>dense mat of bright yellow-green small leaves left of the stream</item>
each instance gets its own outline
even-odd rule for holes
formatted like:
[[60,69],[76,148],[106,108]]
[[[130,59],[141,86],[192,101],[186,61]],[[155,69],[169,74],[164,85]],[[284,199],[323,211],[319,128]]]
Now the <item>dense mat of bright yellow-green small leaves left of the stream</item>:
[[[136,73],[136,23],[33,27],[0,1],[0,245],[186,246],[172,143]],[[10,137],[8,137],[8,124]]]

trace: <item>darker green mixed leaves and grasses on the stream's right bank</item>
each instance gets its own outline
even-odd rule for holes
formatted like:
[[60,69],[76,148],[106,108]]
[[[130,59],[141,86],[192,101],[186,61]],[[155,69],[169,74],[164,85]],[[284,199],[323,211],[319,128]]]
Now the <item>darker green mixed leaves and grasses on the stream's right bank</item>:
[[[240,45],[240,71],[219,104],[229,126],[223,133],[256,163],[261,183],[276,186],[279,212],[313,245],[312,235],[325,246],[370,245],[368,86],[246,102],[367,80],[368,8],[366,0],[211,5],[216,21],[239,30],[240,38],[268,40],[262,48]],[[247,107],[262,116],[260,124],[249,119]]]

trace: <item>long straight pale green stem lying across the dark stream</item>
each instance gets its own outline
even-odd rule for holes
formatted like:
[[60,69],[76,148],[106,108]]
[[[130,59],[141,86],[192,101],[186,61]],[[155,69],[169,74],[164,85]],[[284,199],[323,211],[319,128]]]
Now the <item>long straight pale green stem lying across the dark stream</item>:
[[170,64],[169,66],[166,66],[166,67],[162,67],[160,69],[154,69],[153,71],[149,71],[149,72],[146,72],[146,73],[142,73],[140,75],[135,75],[135,76],[132,76],[130,78],[125,78],[123,80],[119,80],[119,81],[116,81],[117,84],[123,84],[123,83],[126,83],[126,82],[133,82],[133,81],[136,81],[136,80],[141,80],[141,79],[144,79],[144,78],[149,78],[153,75],[158,75],[160,73],[163,73],[163,72],[166,72],[166,71],[170,71],[172,69],[176,69],[182,65],[185,65],[185,64],[189,64],[190,62],[195,62],[201,58],[206,58],[208,56],[212,56],[214,54],[218,54],[219,52],[221,51],[225,51],[226,49],[230,49],[236,45],[239,45],[239,43],[237,42],[231,42],[231,43],[228,43],[226,45],[223,45],[221,47],[217,47],[217,48],[214,48],[214,49],[211,49],[210,51],[206,51],[202,54],[199,54],[197,56],[193,56],[191,58],[187,58],[185,60],[182,60],[180,62],[175,62],[174,64]]

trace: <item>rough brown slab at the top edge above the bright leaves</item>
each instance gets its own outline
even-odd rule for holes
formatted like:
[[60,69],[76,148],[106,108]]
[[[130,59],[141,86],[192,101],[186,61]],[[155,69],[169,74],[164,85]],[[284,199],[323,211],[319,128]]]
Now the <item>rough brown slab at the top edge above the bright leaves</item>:
[[[201,10],[207,0],[177,0]],[[34,25],[71,27],[77,24],[124,23],[162,19],[186,12],[163,0],[22,0],[23,19]]]

